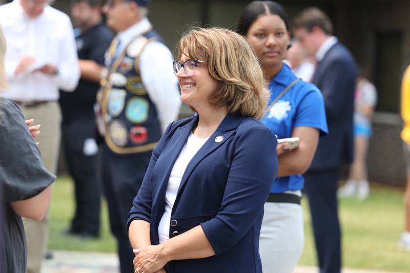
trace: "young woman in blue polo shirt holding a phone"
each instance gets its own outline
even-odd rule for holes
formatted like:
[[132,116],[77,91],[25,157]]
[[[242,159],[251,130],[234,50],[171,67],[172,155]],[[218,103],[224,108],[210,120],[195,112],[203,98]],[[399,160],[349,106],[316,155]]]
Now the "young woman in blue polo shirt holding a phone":
[[238,33],[248,38],[269,83],[271,99],[262,123],[277,138],[299,137],[296,149],[277,147],[279,169],[265,203],[259,252],[263,272],[292,272],[303,250],[304,180],[320,135],[327,133],[323,97],[312,83],[299,80],[282,60],[290,46],[288,16],[271,1],[254,1],[242,12]]

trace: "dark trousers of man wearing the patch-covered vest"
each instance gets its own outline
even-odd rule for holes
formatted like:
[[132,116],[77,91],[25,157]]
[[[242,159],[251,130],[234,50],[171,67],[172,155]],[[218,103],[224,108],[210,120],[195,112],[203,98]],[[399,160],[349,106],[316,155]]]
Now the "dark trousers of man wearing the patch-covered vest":
[[134,272],[135,258],[128,238],[127,220],[134,197],[141,187],[152,151],[130,155],[114,154],[104,145],[103,185],[110,214],[111,232],[117,239],[121,273]]

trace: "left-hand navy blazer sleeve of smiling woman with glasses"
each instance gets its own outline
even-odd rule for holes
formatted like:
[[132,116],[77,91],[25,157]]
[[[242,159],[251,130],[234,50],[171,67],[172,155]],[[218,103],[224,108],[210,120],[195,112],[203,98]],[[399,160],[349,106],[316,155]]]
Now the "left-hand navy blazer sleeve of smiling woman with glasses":
[[133,220],[140,219],[147,222],[151,222],[151,209],[152,209],[152,189],[151,189],[151,175],[152,170],[155,167],[157,159],[161,154],[162,149],[165,146],[165,138],[171,131],[173,122],[171,122],[165,133],[162,135],[158,144],[152,151],[152,156],[150,163],[148,165],[147,172],[145,173],[144,180],[142,180],[141,188],[138,191],[138,194],[134,198],[133,206],[130,213],[128,214],[127,230],[130,227],[130,224]]

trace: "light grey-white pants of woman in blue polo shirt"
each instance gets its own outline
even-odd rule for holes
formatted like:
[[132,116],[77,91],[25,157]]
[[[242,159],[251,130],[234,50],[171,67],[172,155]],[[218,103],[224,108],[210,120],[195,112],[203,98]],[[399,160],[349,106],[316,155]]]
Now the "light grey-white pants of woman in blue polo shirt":
[[303,211],[298,204],[264,205],[259,237],[263,273],[292,273],[303,251]]

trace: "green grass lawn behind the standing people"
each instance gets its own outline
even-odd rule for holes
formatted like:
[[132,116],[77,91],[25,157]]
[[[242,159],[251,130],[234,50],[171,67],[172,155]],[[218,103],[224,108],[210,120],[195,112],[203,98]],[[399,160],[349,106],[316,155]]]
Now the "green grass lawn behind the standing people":
[[[372,185],[370,198],[365,201],[345,199],[340,202],[343,233],[343,265],[349,268],[410,272],[410,251],[397,247],[403,228],[403,192]],[[307,200],[303,200],[305,215],[305,247],[299,261],[315,265],[316,254]],[[60,176],[53,185],[51,201],[50,249],[81,251],[116,251],[108,223],[107,204],[101,209],[101,238],[81,241],[65,236],[74,213],[73,183]]]

